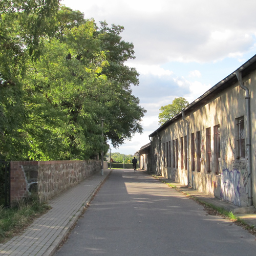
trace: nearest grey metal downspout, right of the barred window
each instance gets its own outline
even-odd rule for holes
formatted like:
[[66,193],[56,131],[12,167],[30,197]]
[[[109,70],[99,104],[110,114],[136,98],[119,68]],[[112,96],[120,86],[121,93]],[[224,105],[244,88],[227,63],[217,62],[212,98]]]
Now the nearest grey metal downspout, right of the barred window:
[[236,76],[238,78],[240,87],[245,90],[245,102],[246,102],[246,129],[247,129],[247,158],[248,158],[248,206],[252,205],[252,182],[251,182],[251,110],[250,110],[250,92],[247,87],[244,86],[242,82],[242,73],[236,71]]

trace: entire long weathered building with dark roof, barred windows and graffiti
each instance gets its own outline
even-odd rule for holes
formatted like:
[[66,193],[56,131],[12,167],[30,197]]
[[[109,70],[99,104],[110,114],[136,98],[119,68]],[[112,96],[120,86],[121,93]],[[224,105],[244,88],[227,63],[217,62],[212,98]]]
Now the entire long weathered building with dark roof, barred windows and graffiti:
[[156,173],[256,205],[256,55],[150,135]]

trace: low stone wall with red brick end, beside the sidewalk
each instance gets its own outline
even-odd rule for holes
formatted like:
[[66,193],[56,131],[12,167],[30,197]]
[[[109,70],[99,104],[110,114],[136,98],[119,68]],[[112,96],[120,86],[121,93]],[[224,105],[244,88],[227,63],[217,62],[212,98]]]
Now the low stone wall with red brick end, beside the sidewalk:
[[[108,168],[104,163],[103,168]],[[90,161],[13,161],[11,162],[11,204],[31,194],[40,202],[99,172],[101,162]]]

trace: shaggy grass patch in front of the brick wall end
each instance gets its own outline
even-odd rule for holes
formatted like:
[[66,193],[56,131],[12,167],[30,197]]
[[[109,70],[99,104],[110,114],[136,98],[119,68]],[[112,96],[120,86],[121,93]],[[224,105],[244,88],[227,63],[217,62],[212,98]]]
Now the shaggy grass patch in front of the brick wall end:
[[15,207],[0,206],[0,243],[17,236],[50,208],[46,203],[39,203],[35,196],[19,201]]

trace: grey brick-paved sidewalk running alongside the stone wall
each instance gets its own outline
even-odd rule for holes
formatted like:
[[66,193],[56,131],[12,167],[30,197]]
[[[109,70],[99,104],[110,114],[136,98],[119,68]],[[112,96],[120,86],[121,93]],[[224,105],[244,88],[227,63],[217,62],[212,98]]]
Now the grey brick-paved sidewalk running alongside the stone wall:
[[100,184],[110,175],[111,170],[104,170],[88,177],[77,186],[70,188],[49,201],[52,209],[36,219],[21,236],[0,244],[1,256],[49,256],[75,224]]

